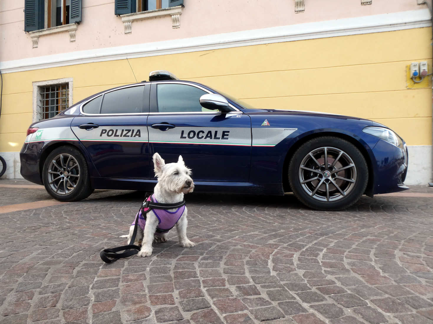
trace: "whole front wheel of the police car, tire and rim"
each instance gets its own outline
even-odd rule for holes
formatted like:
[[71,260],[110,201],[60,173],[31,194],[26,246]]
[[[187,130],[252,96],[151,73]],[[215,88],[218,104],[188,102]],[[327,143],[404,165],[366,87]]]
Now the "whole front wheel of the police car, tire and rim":
[[364,194],[368,166],[352,143],[338,137],[317,137],[294,153],[288,177],[294,195],[306,206],[342,210]]

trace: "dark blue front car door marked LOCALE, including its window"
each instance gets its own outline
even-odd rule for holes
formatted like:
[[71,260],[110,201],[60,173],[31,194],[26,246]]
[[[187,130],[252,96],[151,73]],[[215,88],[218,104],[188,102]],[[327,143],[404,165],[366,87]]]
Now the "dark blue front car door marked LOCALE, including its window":
[[236,108],[229,113],[203,108],[199,98],[207,93],[194,83],[152,83],[150,154],[158,152],[166,163],[181,155],[194,181],[247,182],[251,119]]

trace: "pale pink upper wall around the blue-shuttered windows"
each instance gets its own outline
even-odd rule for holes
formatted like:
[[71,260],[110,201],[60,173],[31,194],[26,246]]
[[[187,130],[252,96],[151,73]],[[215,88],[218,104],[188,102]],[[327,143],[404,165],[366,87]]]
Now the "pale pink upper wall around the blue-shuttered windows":
[[416,0],[372,1],[362,6],[361,0],[305,0],[305,12],[295,14],[294,0],[184,0],[179,29],[165,16],[133,22],[132,34],[125,35],[114,1],[84,0],[75,42],[63,32],[41,36],[32,48],[24,32],[24,0],[0,0],[0,61],[426,8]]

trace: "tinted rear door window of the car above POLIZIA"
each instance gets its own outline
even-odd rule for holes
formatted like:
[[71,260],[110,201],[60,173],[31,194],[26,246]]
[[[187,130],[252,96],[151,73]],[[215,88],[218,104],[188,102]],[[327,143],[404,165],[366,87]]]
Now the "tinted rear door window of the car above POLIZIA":
[[107,92],[103,97],[101,114],[136,114],[143,112],[144,87],[135,86]]

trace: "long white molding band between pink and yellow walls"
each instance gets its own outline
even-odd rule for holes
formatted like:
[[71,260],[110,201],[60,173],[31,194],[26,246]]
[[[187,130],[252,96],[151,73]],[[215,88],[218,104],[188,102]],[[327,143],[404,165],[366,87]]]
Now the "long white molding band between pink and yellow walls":
[[428,9],[420,9],[398,13],[230,32],[226,34],[174,39],[169,41],[158,41],[153,43],[97,48],[86,51],[74,51],[20,60],[3,61],[0,62],[0,70],[2,73],[12,73],[45,69],[48,67],[121,60],[126,57],[148,57],[194,51],[208,51],[219,48],[232,48],[255,44],[389,32],[402,29],[429,27],[431,26],[430,17]]

